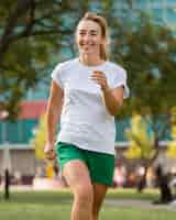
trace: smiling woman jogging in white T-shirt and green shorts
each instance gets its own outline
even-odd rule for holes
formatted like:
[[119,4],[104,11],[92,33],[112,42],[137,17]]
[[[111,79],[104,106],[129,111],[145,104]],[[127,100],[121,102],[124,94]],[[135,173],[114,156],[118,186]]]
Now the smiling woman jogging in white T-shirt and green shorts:
[[[114,169],[114,116],[128,97],[125,70],[107,61],[106,20],[86,13],[76,29],[79,56],[52,73],[45,154],[56,152],[74,194],[72,220],[97,220]],[[62,112],[62,114],[61,114]],[[61,131],[55,145],[56,123]]]

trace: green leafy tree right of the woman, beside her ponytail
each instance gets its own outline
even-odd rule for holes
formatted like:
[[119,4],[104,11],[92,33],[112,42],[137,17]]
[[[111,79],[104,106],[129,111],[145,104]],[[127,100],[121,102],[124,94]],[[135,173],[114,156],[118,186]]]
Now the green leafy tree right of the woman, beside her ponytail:
[[143,120],[150,118],[154,161],[160,140],[169,131],[170,108],[176,105],[176,38],[168,28],[154,24],[143,14],[136,20],[111,21],[118,30],[112,32],[112,57],[127,69],[131,89],[122,114],[138,111]]

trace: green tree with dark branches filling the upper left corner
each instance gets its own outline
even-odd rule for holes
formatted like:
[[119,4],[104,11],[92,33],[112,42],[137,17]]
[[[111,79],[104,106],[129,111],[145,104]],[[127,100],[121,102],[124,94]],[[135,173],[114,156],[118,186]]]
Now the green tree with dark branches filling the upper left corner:
[[58,52],[65,48],[72,53],[75,24],[88,3],[89,0],[1,0],[0,106],[10,118],[16,117],[25,91],[46,78]]

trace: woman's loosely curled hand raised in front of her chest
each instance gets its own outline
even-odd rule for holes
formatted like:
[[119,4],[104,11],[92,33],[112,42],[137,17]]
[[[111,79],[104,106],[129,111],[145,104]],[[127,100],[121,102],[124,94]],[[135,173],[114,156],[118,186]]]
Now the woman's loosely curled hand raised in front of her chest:
[[102,91],[110,89],[105,73],[95,70],[91,75],[91,79],[101,87]]

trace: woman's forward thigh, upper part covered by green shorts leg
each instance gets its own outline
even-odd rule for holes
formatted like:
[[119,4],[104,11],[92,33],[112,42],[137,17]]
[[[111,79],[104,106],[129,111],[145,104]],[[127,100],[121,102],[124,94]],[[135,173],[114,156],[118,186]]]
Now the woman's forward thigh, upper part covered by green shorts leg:
[[69,185],[73,193],[91,190],[91,182],[87,167],[85,152],[76,145],[65,142],[58,142],[56,147],[58,165],[63,176]]

